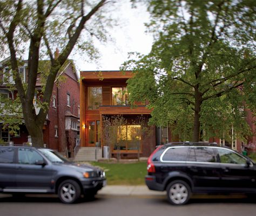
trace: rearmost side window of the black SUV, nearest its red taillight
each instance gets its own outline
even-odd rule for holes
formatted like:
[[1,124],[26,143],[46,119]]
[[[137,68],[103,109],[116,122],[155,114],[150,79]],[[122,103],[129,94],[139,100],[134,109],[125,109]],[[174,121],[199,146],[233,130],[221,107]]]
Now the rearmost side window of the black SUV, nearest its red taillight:
[[188,147],[171,147],[164,156],[163,161],[186,161]]

